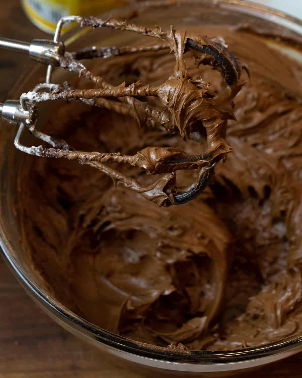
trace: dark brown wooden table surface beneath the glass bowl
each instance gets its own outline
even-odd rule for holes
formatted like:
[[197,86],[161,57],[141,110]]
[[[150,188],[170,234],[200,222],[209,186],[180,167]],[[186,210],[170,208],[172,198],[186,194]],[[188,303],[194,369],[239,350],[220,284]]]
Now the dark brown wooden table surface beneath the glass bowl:
[[[1,2],[0,36],[30,41],[49,38],[25,17],[20,0]],[[0,52],[0,102],[28,57]],[[300,378],[302,353],[245,378]],[[0,378],[141,378],[106,361],[99,351],[52,321],[27,296],[0,259]]]

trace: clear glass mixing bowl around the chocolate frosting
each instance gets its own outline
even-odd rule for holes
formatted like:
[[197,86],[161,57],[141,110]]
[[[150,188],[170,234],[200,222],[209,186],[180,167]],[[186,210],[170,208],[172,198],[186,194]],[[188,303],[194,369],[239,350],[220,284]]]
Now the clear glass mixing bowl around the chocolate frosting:
[[[148,6],[146,6],[148,5]],[[121,20],[129,20],[141,25],[162,26],[169,25],[238,25],[248,24],[260,30],[266,37],[267,43],[274,48],[284,51],[294,59],[302,61],[302,54],[296,48],[302,46],[302,22],[283,12],[268,9],[241,0],[181,0],[179,2],[166,0],[160,2],[138,3],[128,8],[111,12],[111,15]],[[108,17],[103,15],[103,18]],[[277,33],[294,44],[283,44],[269,39],[268,36]],[[121,37],[122,35],[122,37]],[[63,37],[70,50],[77,50],[85,46],[121,46],[131,43],[136,34],[120,33],[115,30],[96,29],[94,31],[73,29]],[[86,62],[85,62],[86,64]],[[28,72],[19,80],[11,91],[11,98],[17,99],[21,93],[31,90],[35,84],[44,81],[46,67],[32,64]],[[52,81],[62,83],[71,82],[74,76],[55,69]],[[40,127],[43,119],[51,111],[47,106],[39,106]],[[95,345],[108,357],[114,358],[114,363],[122,364],[126,368],[154,376],[226,376],[240,373],[243,370],[256,368],[273,361],[288,357],[302,350],[302,335],[273,342],[256,348],[246,348],[225,352],[210,351],[172,351],[141,342],[131,341],[116,334],[107,332],[85,319],[80,318],[64,307],[47,291],[47,287],[40,282],[37,272],[22,250],[22,235],[20,231],[20,217],[18,213],[18,172],[32,158],[25,156],[14,147],[14,137],[17,132],[15,126],[1,123],[0,138],[0,244],[3,257],[11,267],[13,273],[25,290],[43,310],[57,323],[75,336]],[[39,125],[38,125],[39,126]],[[22,142],[32,145],[33,139],[25,133]]]

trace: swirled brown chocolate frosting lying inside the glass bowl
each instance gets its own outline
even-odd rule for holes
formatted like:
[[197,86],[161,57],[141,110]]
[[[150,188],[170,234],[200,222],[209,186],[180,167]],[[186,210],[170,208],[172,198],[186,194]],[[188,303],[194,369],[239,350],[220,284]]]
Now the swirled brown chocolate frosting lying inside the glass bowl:
[[[115,187],[96,162],[35,157],[20,177],[23,242],[49,291],[92,323],[150,344],[237,349],[302,332],[302,71],[248,33],[195,31],[224,37],[251,77],[242,74],[237,122],[227,128],[234,151],[217,164],[214,184],[190,203],[159,208]],[[185,61],[190,77],[223,92],[219,72],[196,68],[190,53]],[[156,86],[174,65],[172,54],[151,49],[106,59],[94,73]],[[43,131],[84,151],[200,153],[196,141],[80,102],[63,104]],[[154,183],[139,167],[115,167]],[[177,180],[197,175],[179,171]]]

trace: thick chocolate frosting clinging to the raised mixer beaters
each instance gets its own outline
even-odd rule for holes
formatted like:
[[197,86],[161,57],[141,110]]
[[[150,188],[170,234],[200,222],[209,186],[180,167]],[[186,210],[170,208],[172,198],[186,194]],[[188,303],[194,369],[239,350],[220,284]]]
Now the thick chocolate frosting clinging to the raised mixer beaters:
[[[165,41],[161,45],[146,46],[143,44],[137,48],[126,46],[124,48],[84,49],[77,53],[66,53],[65,56],[54,56],[61,67],[71,72],[86,77],[100,88],[92,89],[71,89],[68,85],[65,88],[55,87],[50,93],[29,92],[22,96],[25,99],[40,102],[47,100],[68,100],[80,99],[91,105],[106,107],[118,113],[130,115],[135,118],[141,126],[158,127],[167,130],[169,133],[179,133],[187,140],[191,134],[195,139],[202,142],[206,136],[207,148],[204,153],[188,155],[177,147],[146,147],[135,155],[123,155],[121,153],[99,153],[77,151],[74,147],[65,144],[62,149],[62,140],[55,141],[54,138],[46,136],[43,140],[49,141],[55,148],[32,148],[27,152],[32,155],[66,158],[68,160],[97,161],[99,163],[128,163],[145,170],[148,175],[174,173],[176,170],[200,169],[195,184],[186,188],[176,187],[176,175],[166,175],[155,183],[158,190],[153,196],[153,187],[145,187],[137,190],[137,183],[127,180],[123,176],[120,183],[132,187],[133,190],[143,192],[148,198],[159,206],[170,206],[190,201],[195,198],[210,181],[213,172],[210,172],[220,160],[226,158],[231,147],[225,141],[225,130],[228,119],[234,119],[233,98],[240,91],[242,83],[239,81],[241,65],[233,54],[227,49],[221,37],[208,39],[197,33],[190,33],[184,29],[170,27],[168,31],[162,31],[159,26],[146,28],[135,24],[127,24],[119,20],[102,20],[96,17],[82,19],[81,26],[91,25],[93,27],[109,27],[125,31],[132,31],[144,36],[156,37]],[[95,76],[82,64],[74,60],[74,57],[99,57],[104,54],[118,56],[129,53],[142,53],[170,49],[174,53],[176,64],[174,71],[167,80],[160,85],[142,85],[140,80],[126,85],[125,82],[119,85],[107,83],[102,76]],[[105,52],[104,52],[105,51]],[[216,95],[210,87],[210,82],[205,82],[200,77],[193,77],[185,64],[183,54],[190,51],[195,58],[197,67],[200,64],[211,65],[218,70],[226,85]],[[152,107],[148,102],[139,101],[139,98],[153,96],[158,99],[164,107]],[[115,101],[118,98],[119,101]],[[94,101],[96,100],[96,101]],[[34,126],[30,128],[34,130]],[[205,135],[203,135],[205,131]],[[36,136],[37,133],[35,134]],[[39,137],[39,136],[38,136]],[[94,164],[97,167],[96,164]],[[103,165],[100,169],[109,176],[114,177],[118,172],[111,171]],[[176,197],[174,197],[176,194]],[[185,194],[186,198],[180,200]],[[178,199],[178,200],[177,200]]]

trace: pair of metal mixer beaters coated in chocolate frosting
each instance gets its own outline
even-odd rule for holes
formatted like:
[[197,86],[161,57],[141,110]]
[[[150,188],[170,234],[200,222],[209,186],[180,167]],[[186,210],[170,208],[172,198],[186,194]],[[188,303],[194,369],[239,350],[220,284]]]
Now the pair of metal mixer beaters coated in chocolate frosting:
[[[63,24],[72,21],[80,26],[133,31],[160,39],[160,43],[139,47],[92,47],[70,53],[65,51],[65,46],[59,39]],[[228,119],[234,119],[233,98],[242,87],[242,66],[219,37],[208,39],[195,33],[174,29],[172,26],[168,31],[162,31],[159,26],[146,28],[115,19],[67,16],[58,22],[53,41],[33,40],[32,43],[25,43],[1,39],[0,48],[29,53],[33,59],[48,64],[45,83],[38,84],[28,93],[23,93],[20,101],[8,100],[0,104],[2,118],[19,125],[15,147],[23,152],[36,156],[78,160],[110,175],[116,184],[140,192],[143,197],[159,206],[171,206],[196,198],[211,182],[215,165],[225,159],[226,154],[231,151],[231,147],[225,141],[225,131]],[[95,76],[78,62],[80,59],[107,58],[159,50],[173,52],[176,64],[174,73],[168,80],[157,86],[142,85],[140,81],[129,86],[125,83],[114,86],[102,77]],[[225,85],[219,95],[216,95],[211,90],[210,83],[203,81],[201,77],[190,77],[183,59],[183,54],[187,51],[191,52],[197,66],[211,65],[222,74]],[[54,66],[85,77],[97,88],[81,90],[71,88],[67,83],[63,86],[53,84],[51,77]],[[157,107],[144,101],[148,96],[157,98],[162,106]],[[77,151],[64,140],[35,129],[37,103],[60,99],[79,100],[89,105],[105,107],[133,117],[140,127],[159,129],[169,134],[177,133],[185,140],[192,138],[201,142],[205,138],[205,130],[207,150],[200,155],[188,155],[176,147],[147,147],[135,155]],[[51,147],[22,145],[20,136],[24,129],[28,129]],[[148,175],[162,175],[153,185],[145,187],[137,180],[109,167],[110,163],[128,163],[143,169]],[[175,172],[188,169],[199,170],[197,180],[190,186],[177,187]]]

